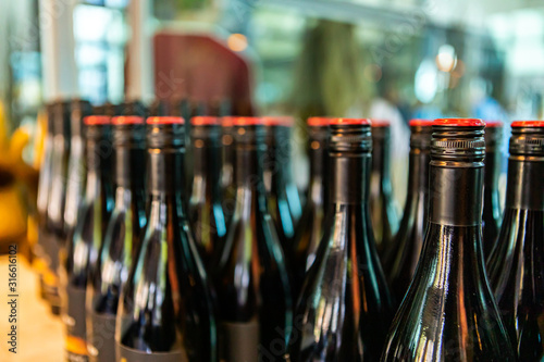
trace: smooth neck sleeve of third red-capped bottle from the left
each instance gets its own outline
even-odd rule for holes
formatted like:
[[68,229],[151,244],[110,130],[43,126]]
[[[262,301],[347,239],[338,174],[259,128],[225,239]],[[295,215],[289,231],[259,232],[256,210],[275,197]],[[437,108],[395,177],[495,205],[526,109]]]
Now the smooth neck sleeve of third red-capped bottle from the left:
[[152,196],[175,196],[182,198],[184,177],[184,149],[148,149],[149,194]]

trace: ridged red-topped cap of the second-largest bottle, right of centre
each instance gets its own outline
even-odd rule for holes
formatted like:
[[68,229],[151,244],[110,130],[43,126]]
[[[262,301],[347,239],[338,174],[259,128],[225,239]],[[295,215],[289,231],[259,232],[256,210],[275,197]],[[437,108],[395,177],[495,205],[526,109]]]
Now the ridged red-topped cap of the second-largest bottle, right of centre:
[[331,153],[370,153],[372,151],[371,122],[367,118],[333,118],[329,129]]

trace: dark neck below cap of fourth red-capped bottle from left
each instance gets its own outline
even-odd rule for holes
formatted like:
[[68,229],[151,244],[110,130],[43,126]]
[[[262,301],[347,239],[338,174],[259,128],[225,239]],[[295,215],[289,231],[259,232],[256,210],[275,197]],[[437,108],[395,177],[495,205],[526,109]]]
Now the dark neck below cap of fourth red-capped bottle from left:
[[213,140],[195,139],[193,148],[193,197],[221,200],[220,160],[221,149]]

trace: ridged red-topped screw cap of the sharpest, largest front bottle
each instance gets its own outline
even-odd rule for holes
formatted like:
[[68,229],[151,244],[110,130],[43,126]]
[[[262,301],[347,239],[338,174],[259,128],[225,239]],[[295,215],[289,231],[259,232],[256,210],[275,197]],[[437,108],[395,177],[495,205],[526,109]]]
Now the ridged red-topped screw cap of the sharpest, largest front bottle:
[[477,118],[441,118],[432,127],[431,158],[481,162],[485,155],[484,126]]

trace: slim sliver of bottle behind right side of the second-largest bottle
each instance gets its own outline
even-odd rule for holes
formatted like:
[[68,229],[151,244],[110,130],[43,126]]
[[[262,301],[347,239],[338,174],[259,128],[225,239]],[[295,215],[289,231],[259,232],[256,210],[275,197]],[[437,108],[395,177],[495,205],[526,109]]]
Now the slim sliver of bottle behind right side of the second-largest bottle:
[[391,184],[390,122],[372,120],[372,172],[370,174],[370,219],[380,255],[392,247],[398,229],[398,213]]

